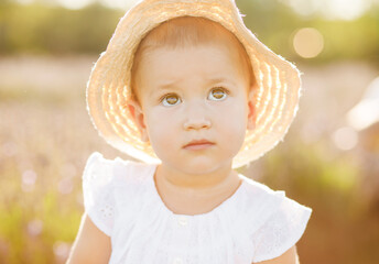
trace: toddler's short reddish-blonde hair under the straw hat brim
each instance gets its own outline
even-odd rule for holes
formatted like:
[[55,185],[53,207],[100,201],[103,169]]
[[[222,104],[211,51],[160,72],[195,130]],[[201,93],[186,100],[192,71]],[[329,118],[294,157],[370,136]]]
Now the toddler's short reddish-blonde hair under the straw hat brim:
[[150,31],[134,53],[131,68],[131,98],[139,102],[136,76],[142,57],[159,47],[182,48],[202,44],[230,43],[237,48],[238,58],[249,78],[249,87],[256,82],[249,56],[240,41],[221,24],[202,16],[180,16],[164,21]]

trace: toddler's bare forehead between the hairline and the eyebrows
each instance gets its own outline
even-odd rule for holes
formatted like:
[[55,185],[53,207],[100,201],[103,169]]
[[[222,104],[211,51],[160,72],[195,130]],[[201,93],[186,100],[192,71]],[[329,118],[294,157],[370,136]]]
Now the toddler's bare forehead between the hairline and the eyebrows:
[[224,44],[155,48],[144,54],[140,67],[137,79],[141,92],[185,82],[234,82],[243,77],[238,53]]

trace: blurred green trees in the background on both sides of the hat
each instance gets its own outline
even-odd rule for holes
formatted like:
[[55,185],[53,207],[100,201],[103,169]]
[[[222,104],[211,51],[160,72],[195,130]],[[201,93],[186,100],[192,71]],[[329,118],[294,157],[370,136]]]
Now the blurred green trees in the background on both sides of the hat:
[[[292,45],[296,30],[312,26],[325,41],[325,50],[307,62],[343,58],[379,58],[379,4],[355,21],[303,18],[279,0],[237,1],[246,25],[273,52],[291,61],[302,61]],[[0,54],[36,53],[99,54],[106,50],[122,10],[94,3],[67,10],[37,3],[0,4]]]

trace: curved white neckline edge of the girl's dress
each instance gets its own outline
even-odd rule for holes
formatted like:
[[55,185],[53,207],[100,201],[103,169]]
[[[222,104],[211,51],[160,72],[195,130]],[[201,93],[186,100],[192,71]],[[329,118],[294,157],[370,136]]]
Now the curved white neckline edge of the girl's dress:
[[202,218],[202,217],[207,217],[210,215],[214,215],[216,211],[223,210],[226,207],[228,207],[228,205],[232,204],[239,196],[239,193],[242,191],[242,189],[245,188],[245,177],[241,174],[238,174],[239,178],[241,179],[240,185],[238,186],[238,188],[235,190],[235,193],[229,196],[227,199],[225,199],[221,204],[219,204],[217,207],[213,208],[210,211],[204,212],[204,213],[196,213],[196,215],[184,215],[184,213],[176,213],[173,212],[170,208],[167,208],[167,206],[164,204],[161,195],[158,191],[156,188],[156,184],[155,184],[155,179],[154,179],[154,175],[156,172],[159,164],[152,164],[151,165],[151,170],[149,172],[149,177],[148,177],[148,182],[149,182],[149,187],[151,188],[151,193],[153,194],[156,202],[159,204],[159,206],[167,213],[175,216],[175,217],[187,217],[187,218]]

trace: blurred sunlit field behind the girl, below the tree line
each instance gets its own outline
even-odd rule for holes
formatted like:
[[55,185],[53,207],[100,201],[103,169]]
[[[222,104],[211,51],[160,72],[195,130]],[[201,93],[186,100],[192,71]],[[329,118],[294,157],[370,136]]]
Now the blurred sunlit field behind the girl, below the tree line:
[[[97,135],[86,112],[85,84],[95,61],[94,56],[0,59],[0,263],[63,263],[83,212],[80,177],[86,158],[93,151],[129,158]],[[285,141],[241,172],[313,208],[299,243],[302,263],[375,264],[378,175],[364,169],[358,153],[334,150],[324,134],[361,94],[354,87],[367,85],[377,70],[364,63],[304,70],[303,108]],[[357,84],[348,80],[350,72],[359,73]],[[345,84],[340,89],[350,87],[356,95],[346,92],[347,98],[333,108],[336,102],[327,96],[332,84]],[[315,127],[318,134],[310,134]]]

